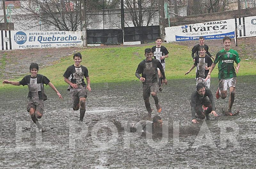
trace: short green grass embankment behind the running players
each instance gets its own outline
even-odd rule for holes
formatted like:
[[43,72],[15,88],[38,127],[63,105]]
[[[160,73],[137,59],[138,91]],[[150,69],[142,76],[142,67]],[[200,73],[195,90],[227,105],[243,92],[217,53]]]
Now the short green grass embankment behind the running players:
[[[139,79],[135,77],[135,71],[138,64],[145,59],[144,49],[151,48],[153,45],[148,44],[148,46],[143,47],[87,48],[81,51],[83,56],[81,64],[88,68],[91,83],[138,81]],[[165,43],[163,45],[169,51],[165,68],[167,79],[194,78],[196,68],[184,76],[185,72],[193,65],[191,48],[172,43]],[[246,53],[241,55],[246,55]],[[1,62],[4,63],[3,56]],[[56,62],[52,66],[44,69],[39,68],[39,74],[48,77],[56,86],[67,85],[63,80],[63,73],[72,64],[74,64],[72,56],[63,57],[60,62]],[[217,73],[218,68],[216,65],[212,72],[212,77],[217,77]],[[255,60],[241,59],[239,76],[244,75],[256,75]],[[2,79],[3,77],[0,78]],[[19,81],[21,78],[12,79],[12,81]],[[0,89],[10,88],[11,86],[2,85],[1,83]]]

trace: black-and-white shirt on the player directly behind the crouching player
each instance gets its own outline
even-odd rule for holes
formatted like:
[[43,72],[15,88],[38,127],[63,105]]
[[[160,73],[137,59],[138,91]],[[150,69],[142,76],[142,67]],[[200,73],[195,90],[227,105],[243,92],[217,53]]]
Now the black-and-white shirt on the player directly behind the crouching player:
[[205,70],[205,66],[210,67],[212,65],[212,59],[208,55],[205,55],[204,57],[199,57],[199,55],[197,55],[195,57],[194,65],[197,69],[196,78],[202,77],[205,79],[209,73],[209,70]]

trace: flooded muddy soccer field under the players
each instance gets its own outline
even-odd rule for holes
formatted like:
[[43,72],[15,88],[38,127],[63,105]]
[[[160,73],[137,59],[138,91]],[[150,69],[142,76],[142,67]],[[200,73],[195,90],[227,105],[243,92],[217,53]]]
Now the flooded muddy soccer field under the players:
[[[78,127],[79,111],[71,108],[67,86],[63,96],[46,88],[44,132],[26,112],[27,86],[1,91],[1,168],[255,168],[256,76],[238,77],[233,112],[225,116],[228,98],[216,99],[216,112],[209,121],[191,123],[189,99],[194,79],[169,80],[158,93],[160,115],[169,126],[168,139],[147,139],[130,133],[120,123],[139,121],[146,108],[139,82],[92,84],[86,100],[85,125]],[[218,80],[211,79],[215,93]],[[173,139],[172,128],[179,128]],[[177,128],[178,127],[178,128]],[[176,132],[177,133],[177,132]],[[177,135],[176,135],[177,136]],[[177,140],[178,139],[178,140]]]

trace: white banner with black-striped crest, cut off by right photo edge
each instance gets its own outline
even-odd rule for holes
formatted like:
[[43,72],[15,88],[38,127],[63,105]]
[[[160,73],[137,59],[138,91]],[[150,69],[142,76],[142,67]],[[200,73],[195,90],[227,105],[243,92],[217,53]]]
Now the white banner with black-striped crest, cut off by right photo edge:
[[236,18],[237,37],[256,36],[256,16]]

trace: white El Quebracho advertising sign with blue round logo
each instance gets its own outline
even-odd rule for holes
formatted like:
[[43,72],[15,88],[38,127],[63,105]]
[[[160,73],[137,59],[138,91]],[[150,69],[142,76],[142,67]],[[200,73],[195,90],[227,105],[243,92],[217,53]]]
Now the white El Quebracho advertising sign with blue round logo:
[[82,46],[81,32],[11,31],[12,49]]

